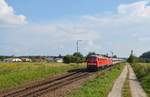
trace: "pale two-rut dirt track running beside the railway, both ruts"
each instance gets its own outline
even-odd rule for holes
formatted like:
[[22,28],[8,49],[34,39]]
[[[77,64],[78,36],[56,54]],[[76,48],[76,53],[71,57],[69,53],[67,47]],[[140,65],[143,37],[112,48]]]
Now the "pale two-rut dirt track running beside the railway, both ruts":
[[112,90],[108,94],[108,97],[122,97],[121,92],[128,72],[129,72],[129,85],[132,97],[147,97],[145,91],[138,82],[132,67],[129,64],[127,64],[124,67],[122,73],[115,81]]

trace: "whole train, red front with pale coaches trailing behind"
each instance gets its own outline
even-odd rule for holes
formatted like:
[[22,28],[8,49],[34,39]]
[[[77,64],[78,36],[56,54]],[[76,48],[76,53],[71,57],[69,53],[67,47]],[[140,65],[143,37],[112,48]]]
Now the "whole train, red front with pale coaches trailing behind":
[[91,55],[87,58],[87,70],[97,71],[123,62],[120,58],[104,57],[101,55]]

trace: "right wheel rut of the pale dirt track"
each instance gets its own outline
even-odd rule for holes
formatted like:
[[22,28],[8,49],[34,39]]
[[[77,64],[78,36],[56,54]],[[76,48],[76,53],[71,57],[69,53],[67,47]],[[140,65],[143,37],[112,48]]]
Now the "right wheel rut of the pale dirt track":
[[143,88],[140,86],[140,83],[138,82],[132,67],[128,65],[128,68],[129,68],[129,84],[132,97],[147,97]]

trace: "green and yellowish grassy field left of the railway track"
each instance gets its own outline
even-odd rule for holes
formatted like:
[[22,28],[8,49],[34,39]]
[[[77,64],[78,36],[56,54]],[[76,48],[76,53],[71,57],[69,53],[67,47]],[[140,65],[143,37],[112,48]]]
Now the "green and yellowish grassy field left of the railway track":
[[0,63],[0,91],[79,68],[85,64]]

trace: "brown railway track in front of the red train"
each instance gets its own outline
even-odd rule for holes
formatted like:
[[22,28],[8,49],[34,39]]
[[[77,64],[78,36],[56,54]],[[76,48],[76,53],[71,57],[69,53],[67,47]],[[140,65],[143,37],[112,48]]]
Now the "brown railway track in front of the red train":
[[79,79],[89,77],[91,74],[92,73],[82,72],[82,71],[69,73],[58,78],[40,82],[33,86],[29,86],[29,87],[18,89],[12,92],[4,93],[0,97],[37,97],[44,93],[54,91],[60,87],[63,87],[67,84],[75,82]]

